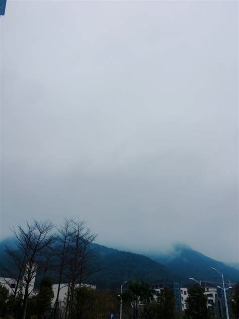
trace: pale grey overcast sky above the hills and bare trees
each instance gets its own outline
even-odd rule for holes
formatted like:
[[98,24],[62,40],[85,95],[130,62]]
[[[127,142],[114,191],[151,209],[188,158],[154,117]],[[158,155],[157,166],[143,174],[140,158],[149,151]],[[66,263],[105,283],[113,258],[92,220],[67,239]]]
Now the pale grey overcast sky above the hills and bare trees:
[[2,237],[237,260],[237,2],[9,1],[1,47]]

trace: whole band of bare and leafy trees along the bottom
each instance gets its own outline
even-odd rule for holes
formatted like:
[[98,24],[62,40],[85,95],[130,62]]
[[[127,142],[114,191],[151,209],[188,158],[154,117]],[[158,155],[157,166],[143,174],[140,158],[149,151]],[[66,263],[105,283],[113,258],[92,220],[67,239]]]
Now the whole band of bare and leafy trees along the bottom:
[[[82,285],[99,270],[92,248],[96,235],[84,222],[65,219],[55,226],[51,221],[33,221],[25,227],[13,227],[12,232],[16,245],[5,248],[5,284],[11,293],[0,284],[0,318],[108,319],[113,314],[118,319],[121,301],[122,319],[215,318],[199,285],[188,290],[186,311],[176,311],[172,290],[165,286],[156,293],[147,281],[129,281],[122,294],[118,285],[108,290]],[[36,277],[41,281],[39,292],[34,294]],[[59,302],[63,283],[67,293]],[[230,305],[237,318],[239,284],[232,291]]]

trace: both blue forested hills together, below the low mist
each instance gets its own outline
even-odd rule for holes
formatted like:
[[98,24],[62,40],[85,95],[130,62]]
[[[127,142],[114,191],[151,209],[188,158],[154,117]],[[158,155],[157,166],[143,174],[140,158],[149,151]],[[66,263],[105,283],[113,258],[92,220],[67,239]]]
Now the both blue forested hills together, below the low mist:
[[[0,242],[1,263],[6,262],[5,245],[13,247],[14,238],[7,238]],[[186,284],[191,282],[189,277],[193,277],[196,280],[220,282],[219,275],[211,270],[211,267],[223,272],[225,282],[239,281],[239,270],[207,257],[187,245],[176,244],[167,254],[160,252],[148,256],[98,244],[92,245],[96,251],[99,271],[91,275],[87,282],[99,288],[119,286],[126,280],[134,279],[152,283],[179,282]]]

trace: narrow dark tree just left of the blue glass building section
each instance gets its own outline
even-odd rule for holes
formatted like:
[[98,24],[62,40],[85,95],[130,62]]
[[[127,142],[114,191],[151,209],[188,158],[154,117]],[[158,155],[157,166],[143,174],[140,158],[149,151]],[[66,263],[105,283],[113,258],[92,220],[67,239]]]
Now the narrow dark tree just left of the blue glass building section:
[[162,319],[175,318],[175,297],[173,291],[164,287],[158,294],[158,315]]

